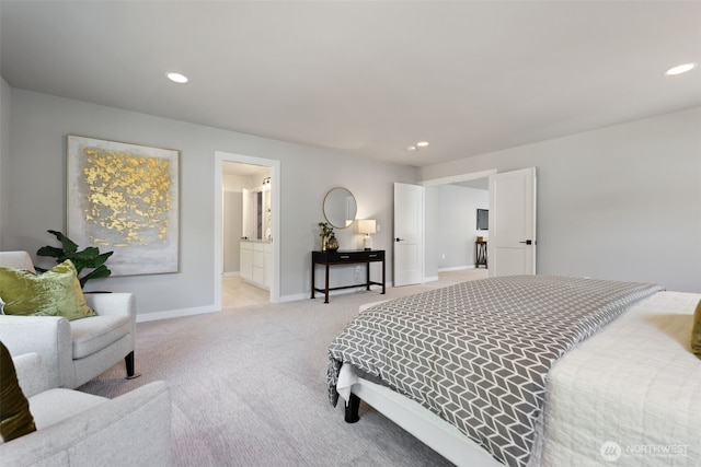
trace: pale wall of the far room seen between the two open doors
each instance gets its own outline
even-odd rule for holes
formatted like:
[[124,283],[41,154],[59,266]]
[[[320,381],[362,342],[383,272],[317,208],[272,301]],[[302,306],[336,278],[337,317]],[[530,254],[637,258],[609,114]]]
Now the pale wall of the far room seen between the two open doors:
[[426,187],[424,276],[440,270],[474,267],[474,242],[486,231],[476,230],[476,210],[487,209],[489,191],[458,185]]

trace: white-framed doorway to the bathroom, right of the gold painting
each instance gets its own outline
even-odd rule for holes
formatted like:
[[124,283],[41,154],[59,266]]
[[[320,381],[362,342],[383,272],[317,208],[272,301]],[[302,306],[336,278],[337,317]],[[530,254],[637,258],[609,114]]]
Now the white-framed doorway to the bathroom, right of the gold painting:
[[[215,153],[215,304],[225,308],[254,303],[278,303],[280,162],[219,151]],[[255,207],[253,210],[249,207],[244,213],[244,185],[245,188],[252,188],[249,191],[265,191],[264,196],[249,197],[250,201],[246,202],[253,206],[253,201],[265,199],[265,206]],[[255,230],[261,233],[260,238],[249,236],[242,241],[242,237],[248,236],[243,227],[246,215],[256,213],[258,218],[263,215],[265,219],[252,218],[252,222],[256,225],[263,222],[265,229]],[[248,276],[241,273],[241,266],[249,262],[249,258],[242,261],[240,252],[248,255],[244,249],[249,246],[251,249],[255,246],[256,254],[260,249],[266,255],[260,265],[256,260],[256,265],[264,267],[265,283],[261,281],[261,287],[252,285],[249,283],[251,281],[244,280],[249,279]]]

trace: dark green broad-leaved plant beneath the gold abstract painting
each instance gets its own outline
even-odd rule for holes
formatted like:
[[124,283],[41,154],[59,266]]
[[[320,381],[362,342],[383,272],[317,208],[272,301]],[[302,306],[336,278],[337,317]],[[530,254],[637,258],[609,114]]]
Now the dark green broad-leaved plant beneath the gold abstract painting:
[[[78,280],[80,281],[81,289],[84,289],[85,282],[90,279],[101,279],[110,277],[112,271],[105,266],[107,258],[112,256],[114,252],[100,253],[100,248],[96,246],[89,246],[83,250],[78,250],[78,245],[72,240],[68,238],[61,232],[47,231],[58,238],[61,243],[61,247],[43,246],[36,254],[38,256],[50,256],[56,258],[57,264],[64,262],[66,259],[70,259],[76,266],[78,271]],[[84,276],[80,276],[83,269],[92,269]],[[46,272],[47,269],[36,268],[39,272]]]

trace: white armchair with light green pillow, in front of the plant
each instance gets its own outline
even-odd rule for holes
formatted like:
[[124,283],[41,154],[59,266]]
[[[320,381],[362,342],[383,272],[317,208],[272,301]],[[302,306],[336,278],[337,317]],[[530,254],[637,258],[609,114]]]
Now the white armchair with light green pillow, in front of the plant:
[[[35,272],[26,252],[0,252],[0,267]],[[38,353],[46,364],[50,387],[76,388],[122,359],[127,378],[138,377],[134,363],[134,295],[85,293],[84,297],[97,316],[69,322],[56,316],[0,315],[0,340],[12,355]]]

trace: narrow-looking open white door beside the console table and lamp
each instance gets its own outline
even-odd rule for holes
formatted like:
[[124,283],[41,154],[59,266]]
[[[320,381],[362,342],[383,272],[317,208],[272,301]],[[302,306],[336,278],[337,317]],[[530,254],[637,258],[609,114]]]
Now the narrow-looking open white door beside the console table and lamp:
[[394,287],[424,279],[424,187],[394,184]]

